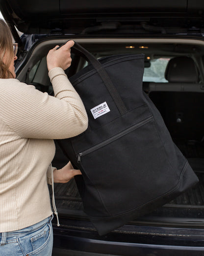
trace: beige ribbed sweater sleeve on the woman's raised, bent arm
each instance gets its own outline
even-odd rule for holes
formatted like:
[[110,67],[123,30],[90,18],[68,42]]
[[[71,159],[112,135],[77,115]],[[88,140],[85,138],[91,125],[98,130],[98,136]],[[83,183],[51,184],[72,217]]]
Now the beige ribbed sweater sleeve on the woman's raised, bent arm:
[[17,79],[0,79],[0,118],[20,137],[62,139],[87,128],[85,108],[64,70],[55,67],[49,76],[54,96]]

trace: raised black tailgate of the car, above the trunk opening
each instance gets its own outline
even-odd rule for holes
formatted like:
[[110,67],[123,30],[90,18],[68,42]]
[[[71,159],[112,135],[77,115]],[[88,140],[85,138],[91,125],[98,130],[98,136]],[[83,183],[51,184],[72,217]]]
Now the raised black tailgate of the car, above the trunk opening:
[[0,9],[19,31],[38,34],[84,33],[87,28],[95,27],[96,31],[97,26],[100,30],[113,30],[122,25],[152,32],[162,32],[160,27],[201,29],[204,19],[202,0],[0,0]]

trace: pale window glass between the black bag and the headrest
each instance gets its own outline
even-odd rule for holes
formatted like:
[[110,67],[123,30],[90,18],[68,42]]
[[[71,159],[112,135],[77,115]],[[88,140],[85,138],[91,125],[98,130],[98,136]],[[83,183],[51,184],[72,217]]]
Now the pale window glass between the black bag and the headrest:
[[150,61],[150,67],[145,67],[143,82],[167,83],[164,74],[170,58],[158,58]]

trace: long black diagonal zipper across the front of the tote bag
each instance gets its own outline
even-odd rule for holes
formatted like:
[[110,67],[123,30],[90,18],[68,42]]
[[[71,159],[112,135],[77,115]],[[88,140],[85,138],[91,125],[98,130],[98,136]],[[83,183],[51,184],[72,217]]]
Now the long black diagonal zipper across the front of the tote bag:
[[93,151],[95,151],[95,150],[97,150],[97,149],[99,149],[99,148],[101,148],[101,147],[103,147],[103,146],[105,146],[105,145],[107,145],[107,144],[109,144],[109,143],[111,143],[111,142],[117,140],[118,138],[120,138],[120,137],[122,137],[122,136],[128,134],[128,133],[131,132],[132,130],[134,130],[134,129],[136,129],[136,128],[140,127],[140,126],[143,126],[143,125],[145,125],[146,123],[150,122],[150,120],[152,120],[152,119],[153,119],[152,116],[151,116],[151,117],[148,117],[148,118],[144,119],[143,121],[141,121],[140,123],[137,123],[137,124],[135,124],[135,125],[133,125],[133,126],[127,128],[127,129],[125,129],[125,130],[119,132],[118,134],[114,135],[113,137],[111,137],[111,138],[109,138],[109,139],[107,139],[107,140],[102,141],[101,143],[97,144],[96,146],[91,147],[91,148],[89,148],[89,149],[87,149],[87,150],[84,150],[84,151],[81,152],[81,153],[78,153],[78,154],[77,154],[77,162],[78,162],[78,163],[81,162],[81,156],[88,155],[88,154],[90,154],[91,152],[93,152]]

